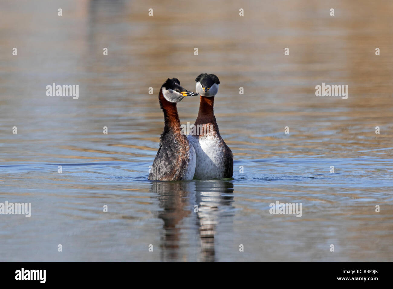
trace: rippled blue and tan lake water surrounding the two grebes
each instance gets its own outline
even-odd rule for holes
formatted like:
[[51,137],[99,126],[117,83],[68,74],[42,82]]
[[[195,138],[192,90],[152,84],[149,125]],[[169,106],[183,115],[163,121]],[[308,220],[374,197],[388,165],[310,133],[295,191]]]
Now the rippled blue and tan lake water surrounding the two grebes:
[[[0,203],[32,212],[0,215],[0,261],[392,261],[393,2],[377,2],[2,1]],[[202,72],[233,180],[151,182],[160,86]]]

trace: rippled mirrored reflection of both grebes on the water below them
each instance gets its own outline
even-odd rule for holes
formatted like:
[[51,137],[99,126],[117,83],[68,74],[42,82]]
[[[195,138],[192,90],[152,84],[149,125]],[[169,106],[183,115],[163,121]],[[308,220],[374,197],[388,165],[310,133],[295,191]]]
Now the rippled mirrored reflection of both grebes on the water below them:
[[[230,180],[197,180],[176,182],[152,182],[151,191],[158,195],[159,206],[163,210],[158,217],[163,220],[161,237],[161,261],[187,261],[187,255],[198,256],[199,261],[217,261],[215,259],[215,234],[222,218],[232,222],[233,182]],[[197,212],[195,205],[198,206]],[[192,221],[194,220],[194,221]],[[194,239],[194,236],[182,236],[191,232],[189,226],[196,223],[195,229],[200,239],[199,252],[183,251],[181,241]],[[186,226],[185,226],[186,225]],[[188,241],[187,241],[188,240]],[[185,247],[185,246],[183,246]],[[191,248],[193,246],[190,246]],[[182,257],[182,258],[181,258]]]

